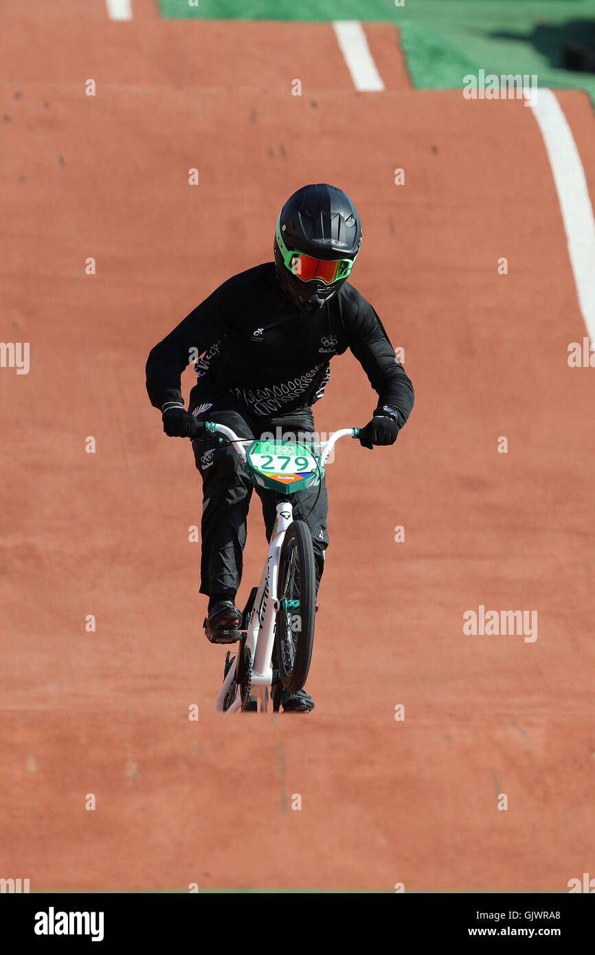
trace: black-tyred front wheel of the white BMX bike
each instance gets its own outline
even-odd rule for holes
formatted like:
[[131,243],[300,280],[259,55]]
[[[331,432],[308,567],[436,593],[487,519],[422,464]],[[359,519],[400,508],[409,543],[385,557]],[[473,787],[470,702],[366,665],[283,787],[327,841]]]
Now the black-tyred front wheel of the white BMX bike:
[[275,621],[275,656],[286,690],[301,690],[308,679],[314,644],[316,575],[314,548],[303,520],[289,524],[279,555],[279,610]]

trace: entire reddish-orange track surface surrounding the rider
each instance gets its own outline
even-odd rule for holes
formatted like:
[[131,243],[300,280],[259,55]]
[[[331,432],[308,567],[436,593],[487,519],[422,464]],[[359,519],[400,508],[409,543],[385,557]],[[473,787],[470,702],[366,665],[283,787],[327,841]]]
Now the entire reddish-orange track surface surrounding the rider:
[[[2,14],[2,337],[31,343],[31,371],[0,371],[0,874],[563,891],[594,848],[595,385],[566,366],[585,332],[537,124],[521,102],[409,90],[383,26],[367,29],[387,92],[358,96],[327,25],[140,12]],[[592,170],[586,96],[561,101]],[[187,540],[199,480],[143,365],[230,270],[270,257],[280,202],[310,180],[357,202],[353,281],[405,348],[416,407],[395,448],[342,442],[329,466],[316,710],[229,721]],[[318,427],[373,406],[335,360]],[[264,542],[255,508],[243,595]],[[464,636],[479,604],[537,609],[538,640]]]

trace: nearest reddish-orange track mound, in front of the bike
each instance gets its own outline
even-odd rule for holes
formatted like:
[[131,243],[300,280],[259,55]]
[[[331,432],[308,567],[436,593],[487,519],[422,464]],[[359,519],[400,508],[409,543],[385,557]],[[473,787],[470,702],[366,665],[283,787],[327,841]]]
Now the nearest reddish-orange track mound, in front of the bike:
[[32,890],[391,892],[563,891],[588,869],[579,720],[232,722],[181,709],[5,717],[7,871]]

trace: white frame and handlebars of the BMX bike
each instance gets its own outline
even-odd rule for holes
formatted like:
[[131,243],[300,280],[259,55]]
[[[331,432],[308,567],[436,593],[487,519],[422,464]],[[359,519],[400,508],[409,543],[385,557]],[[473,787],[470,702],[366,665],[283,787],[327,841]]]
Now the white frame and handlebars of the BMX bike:
[[[214,434],[218,433],[226,437],[233,445],[238,454],[246,460],[244,444],[249,444],[252,438],[245,439],[236,435],[231,428],[225,425],[207,422],[207,430]],[[329,454],[334,447],[335,442],[340,437],[357,437],[358,428],[342,428],[335,431],[325,442],[315,442],[314,447],[320,449],[320,465],[324,465]],[[263,567],[261,582],[256,592],[254,605],[250,612],[248,625],[246,627],[246,645],[250,647],[252,653],[252,685],[250,696],[256,696],[258,699],[258,710],[266,712],[270,699],[270,687],[272,682],[271,661],[273,647],[275,643],[275,616],[277,612],[277,572],[279,567],[279,555],[281,545],[287,533],[287,527],[293,520],[293,508],[289,499],[283,499],[277,504],[277,517],[273,526],[273,531],[268,545],[266,563]],[[223,711],[223,700],[229,690],[236,675],[236,666],[238,663],[238,654],[227,671],[223,680],[223,686],[217,697],[216,710],[219,712],[237,712],[241,709],[242,702],[240,691],[236,699],[228,710]]]

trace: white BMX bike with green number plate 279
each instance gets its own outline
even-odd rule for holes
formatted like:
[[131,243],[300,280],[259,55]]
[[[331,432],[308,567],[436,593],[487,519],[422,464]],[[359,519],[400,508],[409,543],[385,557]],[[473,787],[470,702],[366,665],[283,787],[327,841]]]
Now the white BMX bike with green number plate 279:
[[203,434],[233,445],[255,485],[277,492],[261,583],[244,606],[237,653],[227,651],[218,711],[266,712],[269,703],[278,711],[282,690],[301,690],[306,683],[314,643],[314,551],[308,524],[293,520],[291,494],[319,485],[338,438],[359,432],[343,428],[324,442],[262,441],[202,422]]

